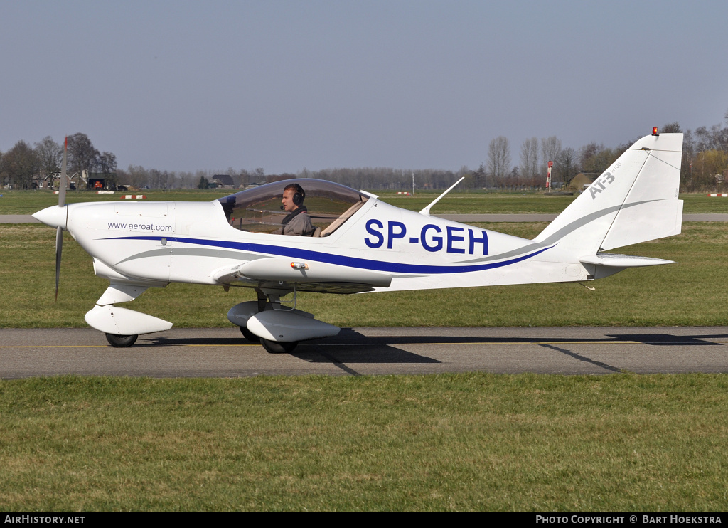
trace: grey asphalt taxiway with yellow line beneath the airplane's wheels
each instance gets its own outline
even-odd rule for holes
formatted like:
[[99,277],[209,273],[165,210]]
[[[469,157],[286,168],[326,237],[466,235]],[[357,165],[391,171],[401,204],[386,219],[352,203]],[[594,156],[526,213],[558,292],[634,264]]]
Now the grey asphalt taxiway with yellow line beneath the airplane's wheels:
[[344,328],[269,354],[237,328],[177,328],[113,348],[90,328],[0,329],[0,378],[728,372],[728,326]]

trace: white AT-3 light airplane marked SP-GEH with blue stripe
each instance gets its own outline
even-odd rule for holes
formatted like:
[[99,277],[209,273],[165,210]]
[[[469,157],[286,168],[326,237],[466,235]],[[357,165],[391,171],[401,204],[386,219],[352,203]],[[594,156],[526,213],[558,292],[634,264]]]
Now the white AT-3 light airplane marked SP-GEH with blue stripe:
[[[682,141],[682,134],[654,128],[534,240],[430,216],[450,189],[416,213],[316,179],[267,184],[212,202],[64,205],[62,185],[59,205],[33,216],[57,228],[57,296],[62,229],[92,256],[96,275],[108,279],[85,319],[114,347],[173,325],[118,304],[178,282],[255,288],[258,300],[232,307],[228,319],[269,352],[290,352],[300,341],[339,333],[296,309],[298,291],[586,282],[630,267],[673,264],[605,251],[681,232]],[[65,164],[64,154],[64,174]],[[305,191],[317,226],[313,236],[277,234],[283,189],[291,182]],[[291,293],[290,303],[281,299]]]

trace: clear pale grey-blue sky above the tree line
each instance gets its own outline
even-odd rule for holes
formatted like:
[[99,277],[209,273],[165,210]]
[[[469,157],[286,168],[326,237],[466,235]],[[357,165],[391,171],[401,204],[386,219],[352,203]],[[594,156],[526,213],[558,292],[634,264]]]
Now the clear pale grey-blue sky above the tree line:
[[0,151],[120,168],[477,168],[728,110],[726,1],[0,0]]

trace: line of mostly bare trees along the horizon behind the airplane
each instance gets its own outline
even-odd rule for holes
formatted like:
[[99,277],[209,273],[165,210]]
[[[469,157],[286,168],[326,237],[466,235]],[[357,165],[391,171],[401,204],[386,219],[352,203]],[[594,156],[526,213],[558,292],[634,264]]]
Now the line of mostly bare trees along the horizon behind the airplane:
[[[728,124],[728,111],[724,115]],[[728,188],[728,126],[713,125],[682,130],[678,122],[670,122],[660,133],[684,133],[681,191],[695,192]],[[135,189],[207,188],[218,175],[232,178],[233,186],[264,184],[288,178],[319,178],[355,189],[446,189],[464,177],[460,189],[539,189],[545,186],[547,164],[553,162],[552,182],[567,185],[578,173],[598,175],[622,155],[638,138],[614,148],[596,142],[579,149],[563,148],[556,136],[528,138],[516,154],[514,165],[510,141],[498,136],[488,143],[486,161],[478,168],[462,166],[459,170],[394,169],[394,168],[331,168],[298,173],[266,174],[264,168],[197,170],[195,172],[146,169],[129,165],[116,166],[116,156],[99,151],[83,133],[68,136],[68,175],[92,173],[103,175],[108,188],[127,185]],[[7,188],[32,189],[34,181],[57,181],[63,147],[47,136],[31,147],[18,141],[12,149],[0,152],[0,184]],[[84,172],[85,171],[85,172]]]

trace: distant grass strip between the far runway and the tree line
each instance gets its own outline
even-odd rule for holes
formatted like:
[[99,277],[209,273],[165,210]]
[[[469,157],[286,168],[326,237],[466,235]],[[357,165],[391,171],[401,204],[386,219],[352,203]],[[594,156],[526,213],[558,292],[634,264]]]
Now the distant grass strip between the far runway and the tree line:
[[[58,194],[50,191],[1,191],[0,215],[33,214],[38,210],[58,204]],[[68,192],[67,203],[76,202],[118,202],[119,195],[96,194],[95,192]],[[129,194],[132,194],[131,192]],[[137,194],[136,192],[133,194]],[[173,190],[142,191],[146,200],[192,200],[206,201],[232,194],[231,189],[224,190]],[[381,200],[397,207],[409,210],[421,210],[429,205],[440,192],[417,192],[408,197],[396,192],[373,191]],[[515,214],[515,213],[561,213],[575,196],[544,196],[542,193],[500,193],[500,192],[457,192],[453,191],[440,200],[433,214]],[[728,213],[728,198],[709,198],[704,193],[683,194],[685,200],[684,213]]]

